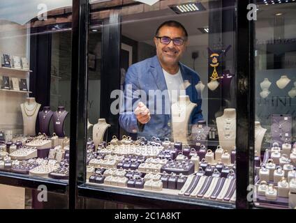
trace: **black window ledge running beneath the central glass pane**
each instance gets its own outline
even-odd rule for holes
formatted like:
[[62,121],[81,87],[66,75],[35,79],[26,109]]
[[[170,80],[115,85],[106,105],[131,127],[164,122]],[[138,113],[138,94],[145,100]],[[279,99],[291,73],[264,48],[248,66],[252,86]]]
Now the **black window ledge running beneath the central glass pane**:
[[148,192],[142,190],[128,190],[120,187],[106,187],[106,185],[90,185],[85,183],[78,186],[78,196],[133,203],[147,208],[235,208],[234,203],[223,203],[206,199],[174,196],[169,194]]

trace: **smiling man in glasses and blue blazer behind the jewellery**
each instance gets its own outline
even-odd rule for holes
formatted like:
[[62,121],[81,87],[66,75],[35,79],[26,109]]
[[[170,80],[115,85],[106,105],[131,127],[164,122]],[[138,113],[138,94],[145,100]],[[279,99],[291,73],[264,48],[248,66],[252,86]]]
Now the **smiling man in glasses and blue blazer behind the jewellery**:
[[[195,85],[200,81],[200,77],[195,71],[179,63],[188,45],[188,33],[184,26],[176,21],[168,21],[161,24],[154,37],[156,45],[156,56],[133,64],[128,68],[124,85],[124,102],[121,104],[121,114],[119,123],[121,128],[127,132],[137,133],[140,137],[150,140],[151,137],[160,139],[171,139],[171,115],[170,107],[177,102],[182,90],[186,90],[191,102],[196,103],[191,114],[192,126],[202,120],[201,105],[202,100],[195,89]],[[191,85],[186,89],[184,82]],[[140,97],[142,93],[149,95],[149,91],[161,92],[161,98],[154,98],[149,95]],[[138,95],[140,98],[133,98]],[[165,100],[163,100],[163,96]],[[173,97],[177,95],[177,97]],[[159,114],[158,101],[161,100],[161,114]],[[131,109],[129,102],[136,105]],[[152,106],[153,105],[153,106]],[[168,109],[169,108],[169,109]],[[157,111],[156,111],[157,110]],[[169,110],[167,113],[166,111]],[[132,112],[131,112],[132,111]],[[184,123],[185,125],[185,123]]]

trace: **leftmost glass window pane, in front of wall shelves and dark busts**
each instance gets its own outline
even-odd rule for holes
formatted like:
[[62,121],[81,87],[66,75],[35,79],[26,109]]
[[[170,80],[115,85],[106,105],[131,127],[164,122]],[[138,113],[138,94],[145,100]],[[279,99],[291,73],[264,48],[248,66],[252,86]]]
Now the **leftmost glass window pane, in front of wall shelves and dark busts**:
[[0,5],[0,171],[66,183],[71,1]]

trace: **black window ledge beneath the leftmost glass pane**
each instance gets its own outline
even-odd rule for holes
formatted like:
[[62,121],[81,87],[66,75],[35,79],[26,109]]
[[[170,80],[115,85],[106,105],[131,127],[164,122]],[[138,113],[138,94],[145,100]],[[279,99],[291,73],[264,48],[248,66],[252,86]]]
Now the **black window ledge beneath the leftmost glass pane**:
[[47,191],[65,194],[68,188],[68,180],[54,180],[51,178],[40,178],[11,172],[0,171],[0,183],[15,187],[38,188],[45,185]]

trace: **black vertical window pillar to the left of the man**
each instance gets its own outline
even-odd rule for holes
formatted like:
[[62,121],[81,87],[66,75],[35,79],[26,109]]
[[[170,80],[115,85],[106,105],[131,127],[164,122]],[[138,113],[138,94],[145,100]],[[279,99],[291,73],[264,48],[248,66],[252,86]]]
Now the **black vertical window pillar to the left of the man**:
[[87,0],[73,0],[71,142],[69,208],[77,207],[77,185],[85,179],[87,135],[87,40],[89,8]]

